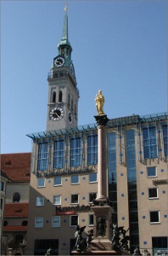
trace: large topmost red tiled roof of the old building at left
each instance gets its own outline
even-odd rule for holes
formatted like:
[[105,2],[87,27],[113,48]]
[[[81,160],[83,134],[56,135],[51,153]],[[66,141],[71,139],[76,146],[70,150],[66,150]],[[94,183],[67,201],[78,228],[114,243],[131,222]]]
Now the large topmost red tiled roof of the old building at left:
[[30,182],[31,153],[1,154],[1,171],[12,182]]

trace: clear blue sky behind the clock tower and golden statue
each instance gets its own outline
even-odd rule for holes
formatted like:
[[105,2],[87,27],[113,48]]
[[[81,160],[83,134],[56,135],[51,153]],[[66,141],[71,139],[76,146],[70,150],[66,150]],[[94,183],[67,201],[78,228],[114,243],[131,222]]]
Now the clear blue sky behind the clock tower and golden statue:
[[[167,1],[68,1],[80,90],[78,125],[167,111]],[[45,131],[48,72],[62,37],[64,1],[1,1],[1,153],[31,152]]]

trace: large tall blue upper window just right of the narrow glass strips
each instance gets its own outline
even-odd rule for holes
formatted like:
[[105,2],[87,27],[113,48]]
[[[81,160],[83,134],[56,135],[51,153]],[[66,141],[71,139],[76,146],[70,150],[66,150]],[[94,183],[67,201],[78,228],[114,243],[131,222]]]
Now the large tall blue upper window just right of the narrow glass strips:
[[158,156],[155,127],[143,128],[143,149],[145,159],[156,158]]

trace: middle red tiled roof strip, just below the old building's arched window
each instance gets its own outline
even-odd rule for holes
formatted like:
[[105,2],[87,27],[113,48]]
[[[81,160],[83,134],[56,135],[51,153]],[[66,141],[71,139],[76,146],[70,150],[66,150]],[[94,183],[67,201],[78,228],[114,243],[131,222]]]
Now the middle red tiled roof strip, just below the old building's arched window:
[[4,218],[28,217],[28,203],[8,203],[5,204]]

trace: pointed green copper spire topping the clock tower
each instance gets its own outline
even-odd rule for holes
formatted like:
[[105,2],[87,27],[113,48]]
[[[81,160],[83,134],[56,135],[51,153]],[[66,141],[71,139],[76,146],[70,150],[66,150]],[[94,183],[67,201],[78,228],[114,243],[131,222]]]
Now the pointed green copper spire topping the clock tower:
[[72,51],[70,42],[68,40],[68,15],[67,15],[68,7],[65,6],[64,8],[64,27],[63,27],[63,35],[62,39],[58,45],[58,49],[63,48],[63,47],[68,47],[70,48],[70,51]]

